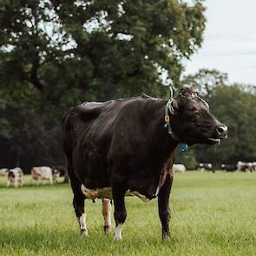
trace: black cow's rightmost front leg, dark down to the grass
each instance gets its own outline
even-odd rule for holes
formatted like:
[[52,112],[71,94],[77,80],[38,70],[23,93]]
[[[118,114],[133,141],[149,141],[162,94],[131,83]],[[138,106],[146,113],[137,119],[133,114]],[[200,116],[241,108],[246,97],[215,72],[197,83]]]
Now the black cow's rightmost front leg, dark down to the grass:
[[173,183],[173,176],[167,174],[166,181],[158,195],[158,212],[161,220],[162,238],[165,239],[170,236],[169,220],[170,220],[170,208],[169,208],[169,196]]

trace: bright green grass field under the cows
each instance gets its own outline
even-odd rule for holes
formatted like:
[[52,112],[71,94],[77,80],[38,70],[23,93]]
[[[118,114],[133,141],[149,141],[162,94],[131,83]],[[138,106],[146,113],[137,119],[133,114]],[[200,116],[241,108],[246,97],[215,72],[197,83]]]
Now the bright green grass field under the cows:
[[176,174],[164,241],[157,200],[127,198],[123,240],[114,242],[101,200],[86,201],[89,237],[80,237],[69,185],[4,186],[0,178],[0,255],[256,255],[256,174]]

